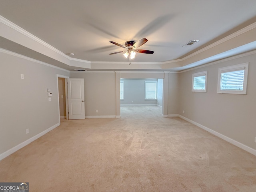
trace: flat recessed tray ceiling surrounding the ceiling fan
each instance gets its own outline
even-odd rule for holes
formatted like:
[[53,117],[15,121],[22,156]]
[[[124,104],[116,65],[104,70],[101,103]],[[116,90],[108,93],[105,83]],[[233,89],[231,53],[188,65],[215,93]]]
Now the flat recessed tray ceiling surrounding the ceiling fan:
[[[1,0],[0,15],[64,54],[125,62],[111,44],[147,38],[134,62],[184,58],[256,22],[255,0]],[[190,40],[198,43],[183,46]]]

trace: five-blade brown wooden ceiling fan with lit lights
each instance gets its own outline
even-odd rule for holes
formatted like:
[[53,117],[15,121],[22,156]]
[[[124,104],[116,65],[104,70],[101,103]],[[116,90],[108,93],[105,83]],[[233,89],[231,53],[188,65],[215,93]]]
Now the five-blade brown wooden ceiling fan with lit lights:
[[136,52],[138,52],[138,53],[146,53],[146,54],[153,54],[154,51],[144,50],[144,49],[137,49],[138,47],[142,46],[147,41],[148,40],[146,38],[142,38],[142,39],[138,40],[137,42],[135,42],[135,41],[126,41],[125,42],[125,46],[121,45],[119,43],[116,43],[114,41],[110,41],[110,43],[113,43],[113,44],[115,44],[117,46],[120,46],[120,47],[126,49],[124,51],[118,51],[118,52],[110,53],[110,55],[124,52],[124,56],[126,58],[129,56],[129,61],[130,61],[130,59],[135,58]]

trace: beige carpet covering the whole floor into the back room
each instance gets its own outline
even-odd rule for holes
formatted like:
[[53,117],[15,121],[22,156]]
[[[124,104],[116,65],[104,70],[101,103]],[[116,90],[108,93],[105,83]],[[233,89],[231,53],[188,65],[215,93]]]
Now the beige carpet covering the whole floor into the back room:
[[62,120],[0,161],[0,182],[29,182],[30,192],[256,192],[256,156],[157,106],[122,107],[119,119]]

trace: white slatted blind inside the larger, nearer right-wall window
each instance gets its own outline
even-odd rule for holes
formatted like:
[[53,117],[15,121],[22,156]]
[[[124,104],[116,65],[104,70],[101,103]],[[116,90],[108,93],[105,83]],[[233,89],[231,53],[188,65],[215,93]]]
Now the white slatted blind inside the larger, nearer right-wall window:
[[244,70],[231,71],[221,74],[220,90],[243,90]]

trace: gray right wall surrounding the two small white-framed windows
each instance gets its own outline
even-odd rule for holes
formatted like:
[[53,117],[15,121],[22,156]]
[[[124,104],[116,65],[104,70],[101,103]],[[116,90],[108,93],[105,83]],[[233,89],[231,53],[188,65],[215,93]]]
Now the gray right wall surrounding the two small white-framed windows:
[[[247,94],[217,93],[218,68],[246,62],[249,62]],[[192,74],[206,70],[207,92],[191,92]],[[256,149],[255,82],[256,54],[183,72],[180,74],[179,114]]]

